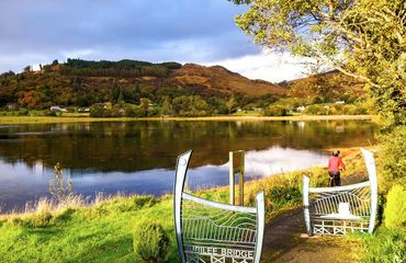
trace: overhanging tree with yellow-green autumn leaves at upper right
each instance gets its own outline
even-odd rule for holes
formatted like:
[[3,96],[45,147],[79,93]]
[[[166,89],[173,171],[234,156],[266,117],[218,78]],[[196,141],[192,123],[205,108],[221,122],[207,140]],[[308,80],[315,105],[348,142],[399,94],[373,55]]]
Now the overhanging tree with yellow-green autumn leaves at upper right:
[[233,0],[243,31],[272,50],[315,58],[356,77],[386,126],[405,124],[404,0]]

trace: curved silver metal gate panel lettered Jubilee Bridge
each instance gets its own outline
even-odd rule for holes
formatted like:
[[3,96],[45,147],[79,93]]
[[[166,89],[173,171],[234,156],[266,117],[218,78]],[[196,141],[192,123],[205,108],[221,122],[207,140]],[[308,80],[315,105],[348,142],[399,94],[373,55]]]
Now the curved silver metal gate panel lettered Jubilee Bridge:
[[234,206],[183,192],[192,151],[178,157],[174,228],[182,263],[259,263],[264,227],[263,192],[256,207]]

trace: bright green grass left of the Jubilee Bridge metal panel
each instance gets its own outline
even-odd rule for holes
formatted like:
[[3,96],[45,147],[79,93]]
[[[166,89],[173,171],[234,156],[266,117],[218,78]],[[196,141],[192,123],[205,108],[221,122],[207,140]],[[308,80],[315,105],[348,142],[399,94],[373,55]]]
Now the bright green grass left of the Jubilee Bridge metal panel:
[[137,196],[116,198],[92,207],[67,209],[44,227],[31,221],[36,218],[3,221],[1,262],[135,262],[133,226],[151,218],[171,233],[168,262],[178,262],[172,199],[145,205],[140,199],[143,197]]

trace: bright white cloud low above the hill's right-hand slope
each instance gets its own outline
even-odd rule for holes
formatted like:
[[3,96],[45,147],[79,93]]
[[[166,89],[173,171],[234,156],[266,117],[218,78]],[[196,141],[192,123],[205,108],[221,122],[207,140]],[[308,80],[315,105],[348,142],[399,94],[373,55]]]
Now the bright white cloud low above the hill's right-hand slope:
[[280,82],[307,76],[308,70],[305,64],[308,62],[312,62],[312,60],[294,57],[290,54],[271,53],[264,49],[256,55],[203,62],[203,65],[219,65],[249,79]]

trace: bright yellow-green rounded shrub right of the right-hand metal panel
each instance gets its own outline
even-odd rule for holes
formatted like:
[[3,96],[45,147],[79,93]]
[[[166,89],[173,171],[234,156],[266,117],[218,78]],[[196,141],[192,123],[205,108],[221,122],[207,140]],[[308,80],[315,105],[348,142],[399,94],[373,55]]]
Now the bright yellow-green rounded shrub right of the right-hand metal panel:
[[385,227],[396,229],[406,225],[406,190],[394,185],[387,194],[384,210]]

